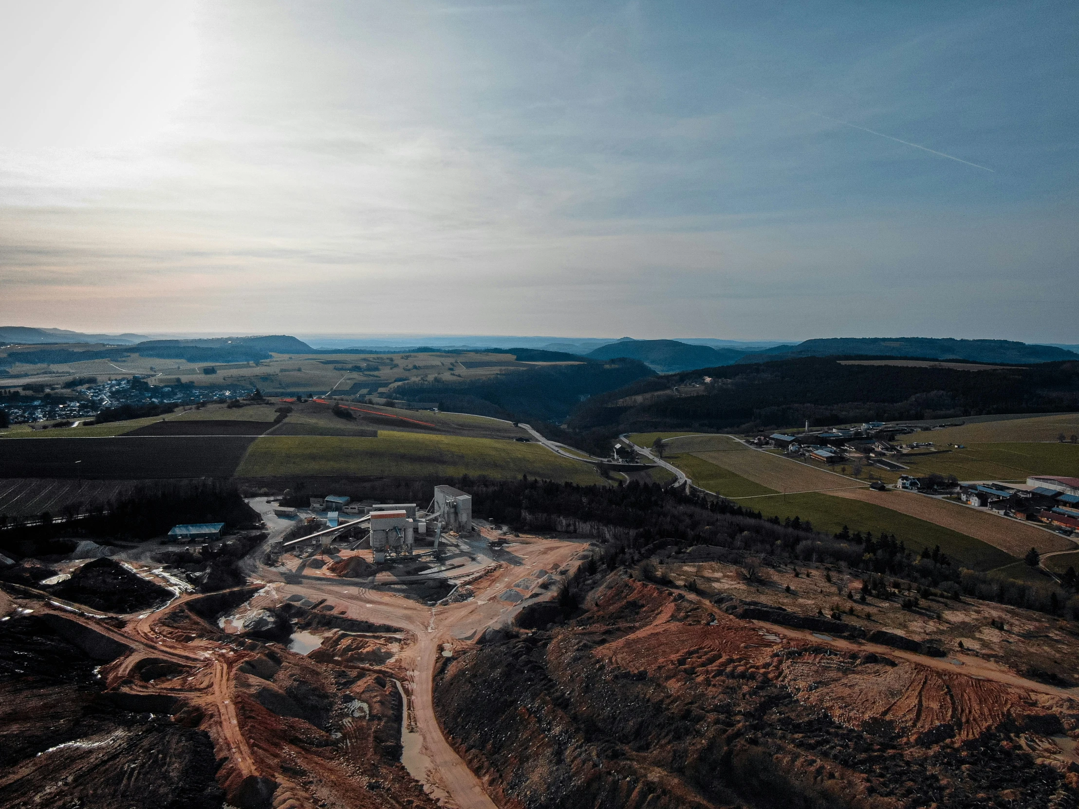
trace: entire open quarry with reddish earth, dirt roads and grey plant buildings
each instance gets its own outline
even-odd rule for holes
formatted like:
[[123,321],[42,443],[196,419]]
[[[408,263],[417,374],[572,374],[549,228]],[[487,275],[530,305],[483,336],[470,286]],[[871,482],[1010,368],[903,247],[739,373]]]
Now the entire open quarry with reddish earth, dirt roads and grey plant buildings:
[[248,499],[236,584],[181,544],[9,566],[0,805],[1079,806],[1075,621],[316,499]]

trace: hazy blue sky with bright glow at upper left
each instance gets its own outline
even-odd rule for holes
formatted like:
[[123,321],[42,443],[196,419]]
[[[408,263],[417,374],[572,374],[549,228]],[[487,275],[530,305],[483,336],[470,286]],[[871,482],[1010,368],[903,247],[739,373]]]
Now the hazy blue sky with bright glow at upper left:
[[2,325],[1079,342],[1074,2],[0,15]]

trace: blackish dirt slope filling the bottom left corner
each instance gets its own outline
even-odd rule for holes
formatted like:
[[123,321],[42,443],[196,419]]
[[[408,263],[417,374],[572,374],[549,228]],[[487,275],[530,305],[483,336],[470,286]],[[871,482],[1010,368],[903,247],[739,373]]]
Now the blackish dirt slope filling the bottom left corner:
[[0,806],[219,807],[209,736],[118,710],[99,662],[36,615],[0,623]]

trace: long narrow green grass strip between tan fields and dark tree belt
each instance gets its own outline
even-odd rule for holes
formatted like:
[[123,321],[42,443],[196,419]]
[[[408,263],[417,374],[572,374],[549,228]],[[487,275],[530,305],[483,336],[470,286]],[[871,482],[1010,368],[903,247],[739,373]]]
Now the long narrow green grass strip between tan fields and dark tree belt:
[[844,525],[851,531],[872,531],[876,535],[888,532],[915,551],[940,545],[941,550],[951,558],[974,570],[991,570],[1013,561],[1013,558],[1002,550],[980,539],[916,517],[899,513],[884,506],[817,493],[762,497],[760,495],[776,495],[777,492],[696,455],[674,455],[669,460],[693,478],[694,483],[710,492],[726,497],[750,498],[739,499],[737,503],[757,510],[765,517],[778,517],[781,520],[798,517],[809,520],[814,527],[828,533],[835,533]]

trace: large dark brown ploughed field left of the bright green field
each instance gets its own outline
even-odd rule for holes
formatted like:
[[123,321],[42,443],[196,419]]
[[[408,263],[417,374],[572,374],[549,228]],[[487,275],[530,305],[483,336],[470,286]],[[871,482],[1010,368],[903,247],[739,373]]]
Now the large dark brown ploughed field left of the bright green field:
[[13,438],[3,442],[0,452],[0,478],[229,478],[254,440],[242,436]]

